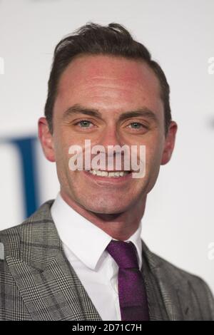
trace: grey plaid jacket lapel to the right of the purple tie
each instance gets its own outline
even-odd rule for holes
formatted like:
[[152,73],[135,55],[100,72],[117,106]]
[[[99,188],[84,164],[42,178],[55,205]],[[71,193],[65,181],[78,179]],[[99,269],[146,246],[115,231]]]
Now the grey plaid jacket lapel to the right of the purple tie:
[[[179,321],[188,318],[188,306],[180,297],[186,297],[188,292],[176,283],[173,273],[169,273],[167,262],[153,254],[146,244],[143,244],[143,277],[148,295],[148,307],[151,320]],[[184,283],[183,283],[184,284]]]

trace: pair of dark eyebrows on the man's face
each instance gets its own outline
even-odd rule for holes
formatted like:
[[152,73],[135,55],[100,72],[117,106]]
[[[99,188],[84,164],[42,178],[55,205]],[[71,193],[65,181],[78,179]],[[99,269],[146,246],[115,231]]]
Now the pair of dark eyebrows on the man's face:
[[[94,108],[85,108],[82,105],[75,104],[71,107],[69,107],[64,113],[63,118],[66,119],[69,116],[75,115],[75,114],[85,114],[85,115],[91,115],[95,118],[103,119],[102,113],[100,113],[97,109]],[[151,118],[151,120],[154,120],[156,123],[158,123],[158,118],[156,114],[148,109],[147,107],[138,108],[137,110],[130,110],[128,112],[122,113],[118,121],[126,120],[126,118],[134,118],[138,116],[145,116],[146,118]]]

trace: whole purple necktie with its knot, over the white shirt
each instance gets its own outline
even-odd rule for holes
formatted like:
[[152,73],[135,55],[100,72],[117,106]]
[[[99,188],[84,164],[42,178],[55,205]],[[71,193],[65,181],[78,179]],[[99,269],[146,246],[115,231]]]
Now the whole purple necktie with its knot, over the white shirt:
[[118,295],[121,320],[149,320],[146,289],[138,267],[136,247],[132,242],[111,240],[106,250],[119,267]]

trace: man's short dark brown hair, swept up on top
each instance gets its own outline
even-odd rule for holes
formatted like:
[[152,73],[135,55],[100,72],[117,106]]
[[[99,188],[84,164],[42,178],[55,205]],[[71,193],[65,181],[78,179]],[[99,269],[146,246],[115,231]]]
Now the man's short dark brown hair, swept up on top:
[[165,133],[171,121],[170,111],[170,87],[165,78],[161,66],[151,59],[151,53],[143,44],[135,41],[121,24],[88,23],[81,26],[75,33],[63,38],[54,50],[54,60],[49,77],[48,96],[45,105],[45,116],[49,123],[49,129],[53,132],[52,116],[56,99],[58,82],[61,74],[74,57],[80,55],[113,55],[124,58],[142,60],[154,71],[160,86],[161,98],[165,113]]

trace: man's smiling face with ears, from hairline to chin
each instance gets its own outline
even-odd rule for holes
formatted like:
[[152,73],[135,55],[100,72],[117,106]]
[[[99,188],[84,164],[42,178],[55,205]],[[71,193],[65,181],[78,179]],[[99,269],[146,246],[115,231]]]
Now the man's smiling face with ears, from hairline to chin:
[[[76,105],[78,113],[66,112]],[[84,114],[81,109],[96,110],[98,115]],[[145,110],[151,113],[143,113]],[[142,115],[121,119],[133,111],[142,111]],[[58,83],[53,129],[53,136],[46,130],[49,148],[40,138],[46,157],[56,160],[61,192],[86,210],[106,214],[143,203],[161,163],[170,159],[175,138],[175,125],[165,138],[160,84],[151,68],[141,61],[113,56],[80,56],[70,63]],[[84,152],[85,140],[91,140],[91,148],[103,145],[106,153],[108,145],[146,145],[145,177],[96,177],[85,170],[70,170],[68,149],[81,145]]]

